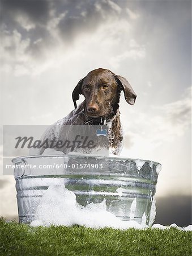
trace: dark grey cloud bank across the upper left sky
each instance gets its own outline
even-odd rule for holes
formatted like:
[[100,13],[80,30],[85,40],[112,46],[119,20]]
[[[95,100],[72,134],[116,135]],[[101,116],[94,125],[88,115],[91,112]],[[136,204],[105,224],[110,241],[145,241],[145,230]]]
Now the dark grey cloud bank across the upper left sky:
[[[63,40],[63,47],[71,46],[78,35],[94,32],[99,24],[121,11],[111,0],[2,0],[1,8],[3,32],[11,35],[17,30],[22,39],[30,39],[25,53],[35,58],[41,57],[44,49],[57,47],[57,36]],[[16,46],[5,50],[16,51]]]

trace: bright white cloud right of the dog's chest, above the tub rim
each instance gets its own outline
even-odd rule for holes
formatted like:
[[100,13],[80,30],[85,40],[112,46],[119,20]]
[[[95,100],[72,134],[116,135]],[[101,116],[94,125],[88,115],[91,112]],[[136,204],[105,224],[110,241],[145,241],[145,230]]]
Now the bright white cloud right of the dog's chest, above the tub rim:
[[147,145],[152,150],[164,142],[173,142],[176,137],[184,135],[191,124],[189,90],[190,88],[186,89],[180,100],[163,106],[151,106],[155,112],[135,113],[135,110],[131,110],[131,123],[125,127],[126,137],[131,143],[125,143],[125,147],[134,147],[136,150],[144,149]]

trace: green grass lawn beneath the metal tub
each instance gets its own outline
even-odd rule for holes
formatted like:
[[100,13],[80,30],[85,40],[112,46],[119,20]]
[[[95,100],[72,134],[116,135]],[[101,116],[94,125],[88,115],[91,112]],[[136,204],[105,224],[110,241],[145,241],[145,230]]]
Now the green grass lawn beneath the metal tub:
[[32,228],[0,219],[0,255],[190,255],[192,232],[82,226]]

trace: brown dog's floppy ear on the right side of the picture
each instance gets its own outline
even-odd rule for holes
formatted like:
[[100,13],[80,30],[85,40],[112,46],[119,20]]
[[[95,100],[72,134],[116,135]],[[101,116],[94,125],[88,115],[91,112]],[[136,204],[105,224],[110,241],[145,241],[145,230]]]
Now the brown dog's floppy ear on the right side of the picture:
[[133,105],[136,100],[136,93],[134,92],[130,83],[122,76],[116,76],[116,77],[117,77],[118,85],[124,92],[126,102],[129,103],[130,105]]

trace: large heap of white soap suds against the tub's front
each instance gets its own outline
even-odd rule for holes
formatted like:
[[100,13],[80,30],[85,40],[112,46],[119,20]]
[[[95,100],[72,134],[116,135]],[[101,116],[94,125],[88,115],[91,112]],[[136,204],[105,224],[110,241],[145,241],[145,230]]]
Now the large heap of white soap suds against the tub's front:
[[[132,212],[135,212],[135,199],[132,204]],[[41,197],[36,209],[35,220],[31,226],[50,225],[80,225],[90,228],[116,228],[127,229],[147,228],[136,221],[122,221],[114,214],[106,211],[106,203],[103,200],[98,204],[88,204],[86,207],[76,202],[75,193],[65,188],[63,184],[52,184]]]

